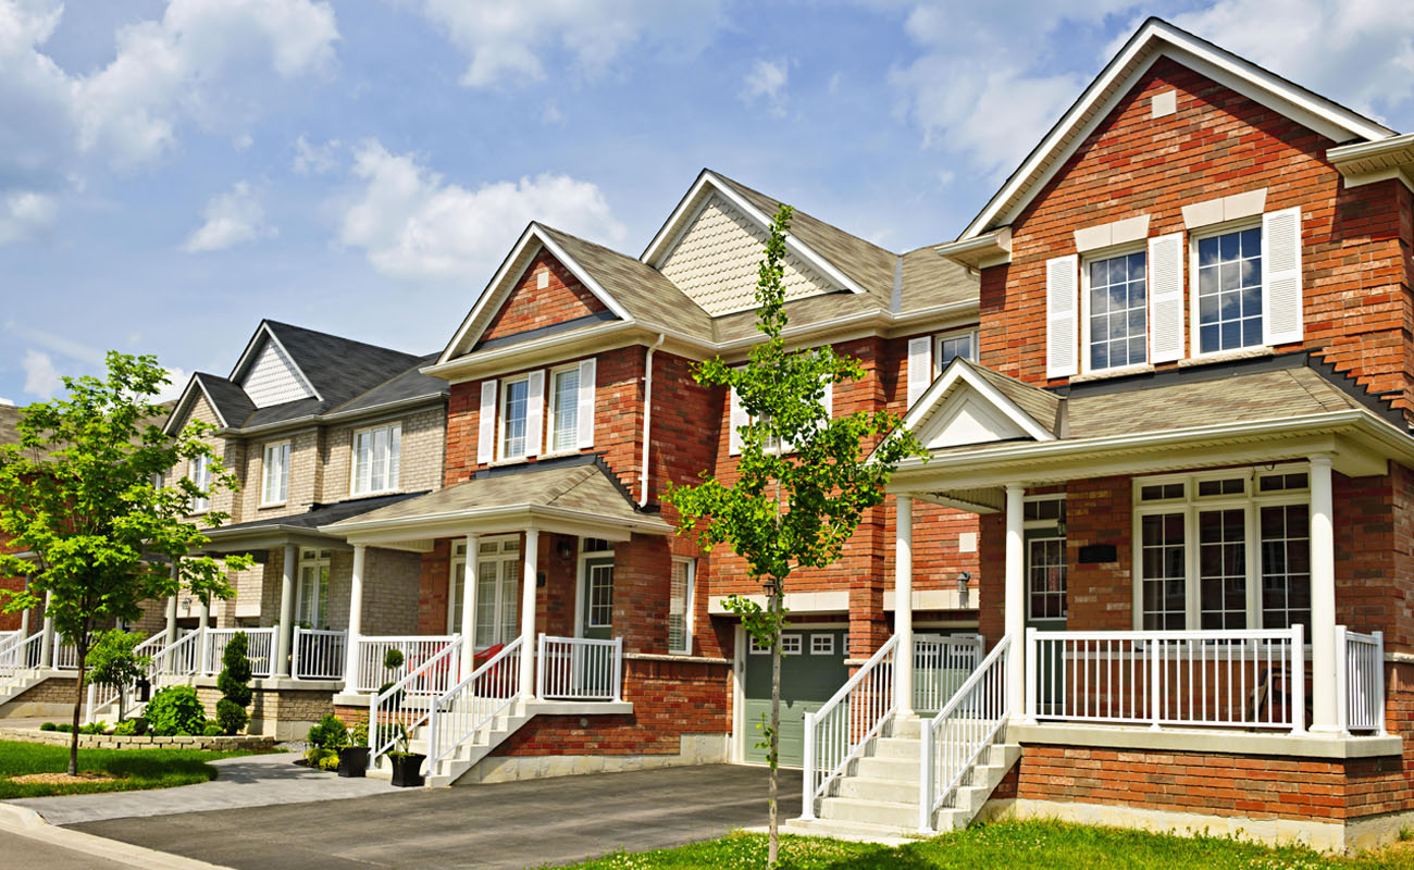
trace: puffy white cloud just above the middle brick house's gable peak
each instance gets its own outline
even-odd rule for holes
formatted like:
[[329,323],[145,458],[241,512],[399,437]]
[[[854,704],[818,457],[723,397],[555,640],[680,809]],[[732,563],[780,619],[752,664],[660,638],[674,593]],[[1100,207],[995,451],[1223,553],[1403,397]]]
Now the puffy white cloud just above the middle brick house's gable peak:
[[611,245],[626,235],[600,188],[568,175],[469,190],[378,140],[355,149],[352,171],[362,190],[344,214],[339,240],[396,279],[481,284],[530,221]]

